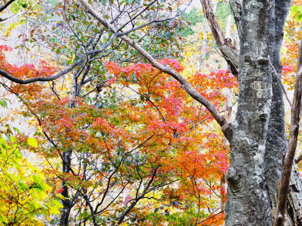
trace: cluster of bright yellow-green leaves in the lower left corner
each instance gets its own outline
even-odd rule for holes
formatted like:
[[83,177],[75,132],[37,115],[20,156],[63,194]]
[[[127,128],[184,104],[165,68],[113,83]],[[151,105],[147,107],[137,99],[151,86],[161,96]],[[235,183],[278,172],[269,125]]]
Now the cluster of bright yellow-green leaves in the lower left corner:
[[[43,216],[59,214],[60,202],[38,166],[23,158],[15,138],[0,139],[0,225],[44,225]],[[30,145],[35,146],[33,139]]]

